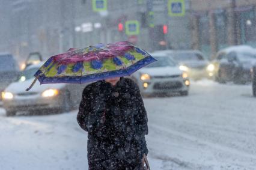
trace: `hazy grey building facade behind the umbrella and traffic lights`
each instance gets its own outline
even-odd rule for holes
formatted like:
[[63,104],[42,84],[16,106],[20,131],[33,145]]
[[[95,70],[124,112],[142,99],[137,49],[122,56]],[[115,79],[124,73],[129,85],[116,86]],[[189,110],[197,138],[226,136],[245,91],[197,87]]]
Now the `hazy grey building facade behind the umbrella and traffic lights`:
[[[10,20],[8,49],[24,60],[29,52],[39,51],[50,56],[70,47],[123,40],[132,41],[149,51],[190,48],[189,13],[183,17],[170,17],[166,0],[108,0],[107,10],[102,12],[94,11],[92,2],[7,1],[10,6],[10,15],[7,15]],[[186,5],[186,10],[188,8]],[[149,13],[152,14],[151,20]],[[129,20],[138,21],[138,35],[126,34],[125,25]],[[123,29],[120,30],[118,25]],[[163,26],[166,27],[165,33]]]

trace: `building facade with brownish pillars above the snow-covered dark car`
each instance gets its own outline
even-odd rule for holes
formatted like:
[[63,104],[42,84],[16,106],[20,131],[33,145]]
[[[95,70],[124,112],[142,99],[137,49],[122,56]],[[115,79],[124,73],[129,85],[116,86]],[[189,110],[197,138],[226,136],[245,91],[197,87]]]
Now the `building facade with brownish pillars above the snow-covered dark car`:
[[214,56],[238,44],[256,47],[256,1],[193,0],[192,47]]

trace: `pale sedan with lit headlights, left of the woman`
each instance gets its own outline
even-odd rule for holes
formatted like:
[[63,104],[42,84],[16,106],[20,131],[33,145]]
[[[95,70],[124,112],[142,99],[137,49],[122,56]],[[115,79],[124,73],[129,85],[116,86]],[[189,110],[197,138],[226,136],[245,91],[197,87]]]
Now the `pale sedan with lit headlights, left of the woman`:
[[34,73],[40,65],[43,63],[27,67],[19,80],[11,83],[2,93],[7,116],[16,115],[18,111],[45,109],[64,112],[78,106],[85,85],[67,83],[40,85],[37,81],[30,91],[25,91],[34,80]]

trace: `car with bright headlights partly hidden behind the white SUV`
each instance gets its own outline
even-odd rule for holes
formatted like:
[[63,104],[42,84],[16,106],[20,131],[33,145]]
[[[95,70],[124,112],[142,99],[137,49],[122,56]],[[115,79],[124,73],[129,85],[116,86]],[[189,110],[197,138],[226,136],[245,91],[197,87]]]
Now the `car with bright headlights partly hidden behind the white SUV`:
[[215,66],[199,50],[162,50],[186,71],[191,79],[212,78]]

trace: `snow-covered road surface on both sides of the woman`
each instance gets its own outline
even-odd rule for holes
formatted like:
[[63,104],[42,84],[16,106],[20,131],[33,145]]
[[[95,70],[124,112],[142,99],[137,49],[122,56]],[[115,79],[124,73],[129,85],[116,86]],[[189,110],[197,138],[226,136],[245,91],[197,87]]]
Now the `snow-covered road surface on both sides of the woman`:
[[[188,97],[144,99],[151,169],[256,169],[256,99],[249,85],[192,83]],[[7,118],[0,169],[88,169],[76,113]]]

